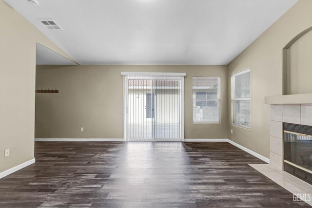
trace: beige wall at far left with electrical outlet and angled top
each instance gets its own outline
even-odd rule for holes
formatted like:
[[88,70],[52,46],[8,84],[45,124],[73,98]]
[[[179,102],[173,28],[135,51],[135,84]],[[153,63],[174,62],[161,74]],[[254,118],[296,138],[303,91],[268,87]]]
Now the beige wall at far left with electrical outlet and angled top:
[[[70,58],[0,0],[0,172],[34,158],[36,42]],[[10,156],[4,158],[4,150]]]

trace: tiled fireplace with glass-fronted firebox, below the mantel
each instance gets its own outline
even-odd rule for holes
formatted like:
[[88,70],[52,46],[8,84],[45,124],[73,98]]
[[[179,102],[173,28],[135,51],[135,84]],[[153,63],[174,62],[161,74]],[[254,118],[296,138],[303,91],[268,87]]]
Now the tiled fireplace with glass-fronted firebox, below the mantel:
[[312,104],[270,105],[270,164],[301,179],[311,177],[312,181],[309,126],[312,126]]

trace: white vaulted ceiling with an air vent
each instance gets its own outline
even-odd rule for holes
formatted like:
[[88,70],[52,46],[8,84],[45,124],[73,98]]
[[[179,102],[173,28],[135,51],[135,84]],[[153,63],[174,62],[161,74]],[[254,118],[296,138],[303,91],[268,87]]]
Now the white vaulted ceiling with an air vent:
[[[5,1],[79,64],[155,65],[228,64],[297,2]],[[63,30],[38,19],[54,19]]]

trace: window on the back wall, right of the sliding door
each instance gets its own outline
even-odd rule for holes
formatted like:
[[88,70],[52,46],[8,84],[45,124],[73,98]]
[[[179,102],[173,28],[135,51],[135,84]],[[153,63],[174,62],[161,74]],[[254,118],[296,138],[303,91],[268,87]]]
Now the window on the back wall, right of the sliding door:
[[193,122],[220,122],[220,77],[193,77]]

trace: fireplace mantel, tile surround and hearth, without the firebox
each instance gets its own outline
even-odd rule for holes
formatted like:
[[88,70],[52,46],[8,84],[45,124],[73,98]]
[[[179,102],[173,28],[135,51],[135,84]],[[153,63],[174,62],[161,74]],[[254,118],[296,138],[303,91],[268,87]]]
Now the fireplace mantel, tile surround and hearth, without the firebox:
[[[312,94],[268,96],[265,104],[270,105],[270,164],[251,166],[293,194],[312,194],[311,184],[283,170],[283,122],[312,126]],[[312,206],[312,200],[306,202]]]

